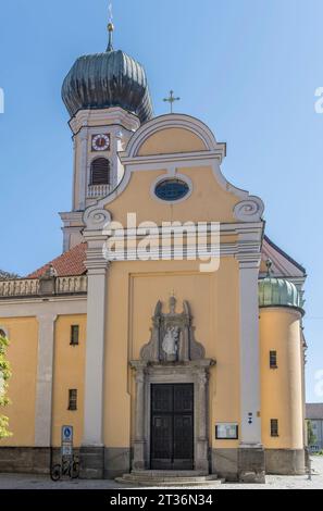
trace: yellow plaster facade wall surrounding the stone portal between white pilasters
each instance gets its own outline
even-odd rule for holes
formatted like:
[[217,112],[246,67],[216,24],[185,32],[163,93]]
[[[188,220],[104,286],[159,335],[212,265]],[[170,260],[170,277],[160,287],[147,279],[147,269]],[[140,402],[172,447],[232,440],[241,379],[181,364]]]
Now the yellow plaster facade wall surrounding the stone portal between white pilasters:
[[159,261],[113,263],[109,271],[105,345],[104,440],[108,447],[128,447],[134,434],[135,385],[128,361],[138,359],[149,341],[158,300],[167,302],[174,291],[177,311],[188,300],[196,338],[207,357],[216,360],[210,378],[210,441],[215,447],[216,422],[239,422],[238,264],[221,261],[219,272],[202,274],[197,262]]

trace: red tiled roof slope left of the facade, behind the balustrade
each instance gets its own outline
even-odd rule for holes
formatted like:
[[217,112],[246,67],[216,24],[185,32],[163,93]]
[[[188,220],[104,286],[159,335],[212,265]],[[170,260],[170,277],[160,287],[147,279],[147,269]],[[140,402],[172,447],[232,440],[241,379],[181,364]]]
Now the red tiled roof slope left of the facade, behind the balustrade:
[[86,260],[87,244],[80,244],[63,253],[59,258],[50,261],[49,263],[41,266],[39,270],[30,273],[26,278],[39,278],[44,273],[53,266],[58,277],[78,276],[86,273],[85,260]]

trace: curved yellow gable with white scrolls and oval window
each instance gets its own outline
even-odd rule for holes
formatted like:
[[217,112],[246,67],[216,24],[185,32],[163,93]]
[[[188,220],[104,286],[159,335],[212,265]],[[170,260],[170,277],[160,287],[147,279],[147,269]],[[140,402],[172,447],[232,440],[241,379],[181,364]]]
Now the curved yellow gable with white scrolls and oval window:
[[[228,183],[221,172],[226,145],[211,129],[189,115],[169,114],[142,124],[119,153],[124,177],[117,188],[88,208],[87,227],[111,221],[125,225],[128,212],[139,223],[153,221],[261,222],[262,201]],[[156,184],[163,178],[189,183],[190,192],[179,201],[163,201]]]

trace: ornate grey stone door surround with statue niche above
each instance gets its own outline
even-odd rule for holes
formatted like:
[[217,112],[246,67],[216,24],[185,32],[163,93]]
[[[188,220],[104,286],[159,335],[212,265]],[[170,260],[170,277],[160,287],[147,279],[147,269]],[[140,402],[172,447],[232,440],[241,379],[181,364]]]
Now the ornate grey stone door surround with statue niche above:
[[209,370],[214,360],[206,359],[202,345],[194,337],[188,302],[177,314],[171,298],[170,312],[162,313],[158,302],[152,317],[151,339],[144,346],[140,360],[131,362],[136,373],[135,441],[133,470],[150,469],[150,403],[152,384],[194,384],[195,470],[209,473]]

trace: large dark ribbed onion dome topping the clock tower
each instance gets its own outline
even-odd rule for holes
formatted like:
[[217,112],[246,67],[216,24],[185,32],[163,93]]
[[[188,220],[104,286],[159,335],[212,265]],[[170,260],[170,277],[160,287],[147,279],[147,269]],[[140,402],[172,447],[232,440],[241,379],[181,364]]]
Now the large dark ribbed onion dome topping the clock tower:
[[62,87],[62,98],[73,117],[79,110],[121,107],[141,122],[152,117],[152,103],[146,72],[123,51],[114,51],[114,26],[108,25],[109,45],[104,53],[76,60]]

